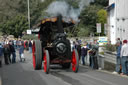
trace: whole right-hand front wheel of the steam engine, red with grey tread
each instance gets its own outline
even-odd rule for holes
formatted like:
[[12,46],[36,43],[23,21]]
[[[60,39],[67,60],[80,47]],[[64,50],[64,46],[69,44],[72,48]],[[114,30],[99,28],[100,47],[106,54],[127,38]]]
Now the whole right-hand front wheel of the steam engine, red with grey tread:
[[72,52],[72,70],[78,72],[79,69],[79,56],[76,49]]

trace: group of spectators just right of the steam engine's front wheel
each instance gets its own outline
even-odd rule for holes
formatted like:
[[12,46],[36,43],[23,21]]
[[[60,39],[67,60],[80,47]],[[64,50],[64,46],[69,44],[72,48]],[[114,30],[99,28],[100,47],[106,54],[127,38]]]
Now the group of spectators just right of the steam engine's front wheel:
[[71,45],[73,49],[77,49],[79,54],[79,60],[82,65],[87,63],[87,55],[89,54],[89,66],[92,69],[98,69],[98,42],[94,40],[93,42],[88,43],[87,41],[81,41],[76,39]]

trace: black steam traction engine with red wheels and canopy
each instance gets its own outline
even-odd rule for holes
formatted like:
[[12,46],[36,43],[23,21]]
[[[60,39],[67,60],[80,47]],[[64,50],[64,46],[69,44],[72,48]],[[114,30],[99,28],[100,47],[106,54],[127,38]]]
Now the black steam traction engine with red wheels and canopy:
[[45,73],[49,73],[50,64],[60,64],[63,68],[78,71],[79,56],[77,50],[71,52],[70,41],[66,38],[64,28],[72,26],[73,20],[66,20],[62,16],[47,18],[38,25],[39,40],[33,42],[33,67],[39,70],[42,67]]

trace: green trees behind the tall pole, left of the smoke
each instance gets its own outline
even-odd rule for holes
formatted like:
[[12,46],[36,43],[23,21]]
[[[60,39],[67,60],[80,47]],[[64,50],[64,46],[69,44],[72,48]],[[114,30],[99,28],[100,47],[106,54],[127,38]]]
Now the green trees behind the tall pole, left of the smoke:
[[[52,1],[30,0],[31,27],[43,18],[44,10]],[[0,0],[0,30],[3,34],[18,37],[28,29],[27,6],[27,0]]]

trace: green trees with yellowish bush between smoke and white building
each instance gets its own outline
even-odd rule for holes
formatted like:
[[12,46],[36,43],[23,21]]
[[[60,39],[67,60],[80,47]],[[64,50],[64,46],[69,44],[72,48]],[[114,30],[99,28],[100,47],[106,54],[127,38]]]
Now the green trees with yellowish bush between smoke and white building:
[[[108,5],[108,0],[94,0],[89,6],[86,6],[80,14],[80,24],[78,27],[78,36],[89,36],[96,33],[96,23],[106,23],[107,12],[103,10]],[[102,9],[102,10],[101,10]],[[102,35],[104,32],[102,24]]]

